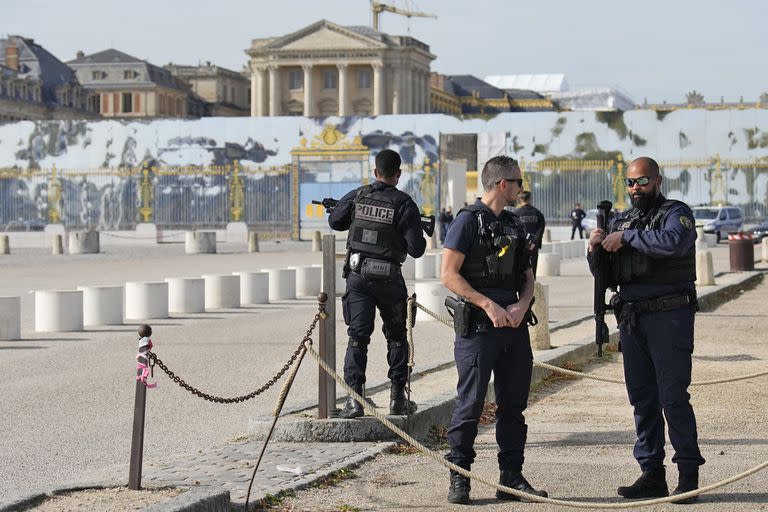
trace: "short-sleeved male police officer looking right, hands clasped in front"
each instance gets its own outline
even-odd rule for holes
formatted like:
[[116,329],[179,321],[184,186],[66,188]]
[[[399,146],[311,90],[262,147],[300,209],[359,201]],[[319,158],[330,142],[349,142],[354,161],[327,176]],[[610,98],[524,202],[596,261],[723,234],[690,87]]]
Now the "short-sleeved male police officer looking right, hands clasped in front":
[[[522,474],[528,427],[533,354],[525,323],[533,297],[525,227],[504,209],[515,204],[522,187],[520,167],[507,156],[488,160],[481,174],[483,196],[462,208],[448,230],[443,248],[442,281],[471,303],[469,327],[456,334],[454,357],[459,380],[456,408],[448,428],[451,451],[446,459],[469,470],[491,372],[495,376],[496,440],[499,482],[539,496]],[[457,318],[454,315],[454,324]],[[469,502],[468,478],[451,472],[448,501]],[[517,499],[502,492],[496,497]]]

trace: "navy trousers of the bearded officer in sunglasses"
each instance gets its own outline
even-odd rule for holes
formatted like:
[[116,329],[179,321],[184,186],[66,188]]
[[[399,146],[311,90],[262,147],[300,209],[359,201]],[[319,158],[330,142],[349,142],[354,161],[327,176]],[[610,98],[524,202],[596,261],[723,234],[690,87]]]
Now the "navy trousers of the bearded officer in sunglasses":
[[[635,410],[634,456],[643,470],[664,463],[664,417],[678,468],[704,464],[691,407],[694,312],[689,308],[636,314],[619,325],[624,377]],[[663,416],[662,416],[663,411]]]

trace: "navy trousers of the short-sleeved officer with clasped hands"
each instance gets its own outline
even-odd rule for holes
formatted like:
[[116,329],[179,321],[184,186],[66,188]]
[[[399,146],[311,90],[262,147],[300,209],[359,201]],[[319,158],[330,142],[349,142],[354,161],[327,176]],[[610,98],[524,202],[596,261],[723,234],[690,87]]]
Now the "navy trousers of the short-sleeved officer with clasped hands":
[[528,434],[523,411],[528,406],[533,353],[528,327],[495,329],[454,345],[459,381],[456,408],[448,428],[451,447],[446,459],[469,470],[475,460],[475,438],[491,372],[496,393],[496,443],[499,469],[521,471]]

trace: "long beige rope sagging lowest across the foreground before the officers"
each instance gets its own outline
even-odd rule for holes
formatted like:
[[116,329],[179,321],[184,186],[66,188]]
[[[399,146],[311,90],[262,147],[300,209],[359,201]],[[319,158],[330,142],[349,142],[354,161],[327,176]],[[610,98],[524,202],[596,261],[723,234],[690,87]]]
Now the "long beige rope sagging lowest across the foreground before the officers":
[[572,508],[583,508],[583,509],[622,509],[622,508],[638,508],[638,507],[647,507],[652,505],[659,505],[661,503],[672,503],[679,500],[685,500],[687,498],[692,498],[694,496],[698,496],[699,494],[703,494],[705,492],[709,492],[715,489],[719,489],[720,487],[723,487],[725,485],[728,485],[730,483],[736,482],[737,480],[741,480],[743,478],[748,477],[749,475],[752,475],[754,473],[757,473],[760,470],[765,469],[768,467],[768,461],[763,462],[762,464],[758,464],[757,466],[750,468],[742,473],[739,473],[738,475],[734,475],[730,478],[727,478],[725,480],[722,480],[720,482],[707,485],[705,487],[700,487],[699,489],[689,491],[686,493],[678,494],[676,496],[668,496],[666,498],[657,498],[652,500],[640,500],[640,501],[627,501],[627,502],[621,502],[621,503],[600,503],[600,502],[587,502],[587,501],[568,501],[568,500],[557,500],[553,498],[542,498],[540,496],[536,496],[534,494],[528,494],[525,492],[518,491],[517,489],[512,489],[510,487],[501,485],[496,483],[495,481],[488,480],[487,478],[476,475],[470,471],[467,471],[466,469],[459,467],[446,459],[444,459],[439,453],[433,452],[426,446],[422,445],[416,439],[408,435],[405,431],[397,427],[394,423],[389,421],[383,414],[379,413],[376,409],[370,406],[368,402],[365,401],[365,399],[357,394],[354,389],[352,389],[350,386],[347,385],[346,382],[344,382],[344,379],[342,379],[336,371],[334,371],[328,364],[322,360],[320,357],[320,354],[318,354],[311,346],[307,346],[307,353],[311,355],[312,357],[317,360],[317,363],[320,365],[320,367],[327,373],[329,376],[331,376],[336,383],[341,386],[344,390],[349,393],[349,395],[360,402],[363,405],[363,409],[366,413],[370,414],[377,420],[379,420],[384,426],[386,426],[389,430],[400,436],[402,439],[407,441],[411,446],[415,447],[417,450],[422,452],[424,455],[432,458],[437,463],[445,466],[446,468],[455,471],[459,473],[460,475],[463,475],[467,478],[471,478],[472,480],[476,480],[482,484],[485,484],[489,487],[492,487],[498,491],[506,492],[508,494],[512,494],[514,496],[517,496],[518,498],[523,498],[527,501],[532,501],[536,503],[547,503],[550,505],[558,505],[563,507],[572,507]]

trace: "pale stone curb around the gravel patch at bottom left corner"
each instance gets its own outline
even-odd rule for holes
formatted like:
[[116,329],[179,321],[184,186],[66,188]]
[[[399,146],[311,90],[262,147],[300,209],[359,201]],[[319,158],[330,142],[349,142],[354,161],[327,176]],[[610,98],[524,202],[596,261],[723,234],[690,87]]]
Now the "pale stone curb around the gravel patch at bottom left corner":
[[[14,501],[0,503],[0,512],[18,512],[32,509],[43,501],[70,492],[88,489],[108,489],[126,487],[124,482],[86,482],[68,484],[48,491],[37,491]],[[229,512],[229,491],[206,487],[181,487],[184,492],[165,501],[141,509],[143,512]]]

